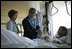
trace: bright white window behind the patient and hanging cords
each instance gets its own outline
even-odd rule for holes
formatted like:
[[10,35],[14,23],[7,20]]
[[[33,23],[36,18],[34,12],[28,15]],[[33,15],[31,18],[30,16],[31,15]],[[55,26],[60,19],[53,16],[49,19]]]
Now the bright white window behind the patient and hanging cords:
[[[71,28],[71,16],[68,15],[65,1],[53,1],[54,6],[58,9],[58,12],[52,15],[53,24],[53,36],[57,33],[60,26]],[[71,1],[67,1],[68,12],[71,14]],[[52,8],[51,14],[55,13],[56,8]]]

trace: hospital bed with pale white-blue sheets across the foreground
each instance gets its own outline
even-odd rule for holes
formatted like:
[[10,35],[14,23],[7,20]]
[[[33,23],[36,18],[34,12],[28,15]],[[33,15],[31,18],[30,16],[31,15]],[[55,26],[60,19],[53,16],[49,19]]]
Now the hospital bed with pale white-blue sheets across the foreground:
[[[71,38],[71,31],[67,38]],[[20,37],[15,32],[1,28],[1,48],[71,48],[71,39],[66,40],[67,43],[57,44],[45,41],[43,39],[29,39]]]

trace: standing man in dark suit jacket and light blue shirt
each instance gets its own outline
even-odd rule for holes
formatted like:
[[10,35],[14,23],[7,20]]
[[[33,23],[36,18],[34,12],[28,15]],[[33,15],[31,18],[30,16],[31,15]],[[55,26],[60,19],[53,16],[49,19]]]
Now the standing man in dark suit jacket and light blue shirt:
[[37,19],[35,17],[36,17],[36,10],[34,8],[30,8],[29,15],[22,21],[22,25],[24,28],[24,36],[30,39],[37,38],[37,34],[41,33]]

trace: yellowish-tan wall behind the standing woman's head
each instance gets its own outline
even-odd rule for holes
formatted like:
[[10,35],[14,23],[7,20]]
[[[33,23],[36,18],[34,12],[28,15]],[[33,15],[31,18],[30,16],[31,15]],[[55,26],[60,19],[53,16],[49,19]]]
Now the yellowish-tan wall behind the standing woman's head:
[[17,20],[21,24],[28,14],[29,4],[27,1],[1,1],[1,23],[9,21],[8,12],[11,9],[18,11]]

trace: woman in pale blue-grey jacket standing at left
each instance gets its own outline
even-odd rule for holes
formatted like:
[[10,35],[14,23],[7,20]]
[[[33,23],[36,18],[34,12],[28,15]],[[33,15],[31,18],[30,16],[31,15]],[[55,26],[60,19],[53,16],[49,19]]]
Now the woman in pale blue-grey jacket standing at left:
[[15,22],[15,20],[17,19],[17,16],[18,16],[18,12],[16,10],[13,10],[13,9],[10,10],[8,12],[8,17],[10,18],[10,20],[7,22],[6,27],[7,27],[8,30],[11,30],[11,31],[18,34],[19,29],[18,29],[18,26]]

